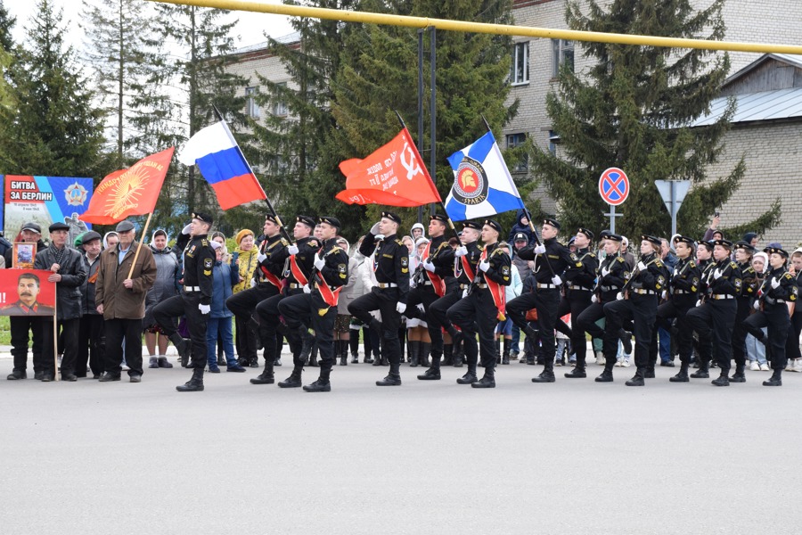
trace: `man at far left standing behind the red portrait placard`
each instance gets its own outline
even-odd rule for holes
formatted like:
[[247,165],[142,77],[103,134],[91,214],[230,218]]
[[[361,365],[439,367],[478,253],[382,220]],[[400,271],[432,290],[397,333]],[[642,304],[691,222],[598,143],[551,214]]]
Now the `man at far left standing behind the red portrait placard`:
[[[37,252],[44,250],[47,246],[42,241],[42,227],[37,223],[29,222],[22,226],[20,230],[22,241],[25,243],[36,243]],[[5,267],[11,268],[13,266],[13,249],[5,251]],[[7,379],[13,381],[16,379],[25,379],[28,374],[28,342],[29,335],[32,334],[33,339],[33,364],[34,364],[34,377],[42,379],[44,376],[44,367],[42,363],[42,330],[40,322],[35,317],[30,316],[12,316],[9,318],[11,325],[11,343],[12,343],[12,357],[14,358],[14,369]]]

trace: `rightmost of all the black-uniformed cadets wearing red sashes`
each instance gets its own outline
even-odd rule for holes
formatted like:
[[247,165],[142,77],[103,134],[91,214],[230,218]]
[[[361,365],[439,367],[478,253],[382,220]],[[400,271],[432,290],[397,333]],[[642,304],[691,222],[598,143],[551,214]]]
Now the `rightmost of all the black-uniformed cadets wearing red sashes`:
[[[457,379],[457,383],[471,383],[473,388],[495,388],[495,325],[504,316],[504,286],[511,283],[510,255],[498,248],[498,236],[501,234],[502,228],[498,223],[493,219],[485,219],[482,226],[485,247],[476,275],[465,291],[465,297],[447,312],[448,319],[462,328],[465,358],[468,360],[468,373]],[[479,381],[476,377],[477,331],[482,366],[485,368],[485,374]]]

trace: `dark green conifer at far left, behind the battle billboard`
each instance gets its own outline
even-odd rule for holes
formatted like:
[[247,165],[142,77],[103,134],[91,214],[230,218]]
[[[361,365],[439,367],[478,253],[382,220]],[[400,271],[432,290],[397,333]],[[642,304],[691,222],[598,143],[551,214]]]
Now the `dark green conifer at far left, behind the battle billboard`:
[[0,110],[0,168],[94,177],[102,169],[102,110],[64,45],[62,10],[38,0],[26,44],[9,70],[17,107]]

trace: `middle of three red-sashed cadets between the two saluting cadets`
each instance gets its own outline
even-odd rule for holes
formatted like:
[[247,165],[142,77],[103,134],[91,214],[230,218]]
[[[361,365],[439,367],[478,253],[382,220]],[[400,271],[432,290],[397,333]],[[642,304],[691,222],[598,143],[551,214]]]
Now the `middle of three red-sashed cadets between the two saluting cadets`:
[[[279,320],[278,304],[285,297],[303,293],[304,286],[309,283],[309,276],[315,268],[313,265],[315,252],[320,248],[320,244],[317,243],[317,240],[312,235],[314,229],[314,218],[309,216],[295,218],[295,226],[292,229],[295,244],[288,246],[286,250],[290,256],[284,260],[282,278],[286,279],[286,281],[282,284],[283,290],[280,288],[279,293],[261,301],[256,307],[256,315],[259,318],[259,335],[263,343],[265,343],[265,369],[257,377],[250,380],[252,384],[272,384],[274,382],[276,359],[281,358],[281,355],[277,354],[278,340],[276,339],[276,333],[281,333],[282,336],[287,334],[287,329],[284,328]],[[271,264],[274,265],[275,261],[280,258],[280,255],[276,255]],[[276,341],[276,343],[265,341]],[[280,363],[279,366],[281,366]]]

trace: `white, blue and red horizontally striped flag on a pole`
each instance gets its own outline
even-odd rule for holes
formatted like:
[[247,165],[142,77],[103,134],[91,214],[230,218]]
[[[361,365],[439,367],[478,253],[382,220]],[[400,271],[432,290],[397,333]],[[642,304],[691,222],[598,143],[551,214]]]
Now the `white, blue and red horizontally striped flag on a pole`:
[[198,165],[223,210],[267,198],[223,120],[192,136],[178,154],[178,161]]

